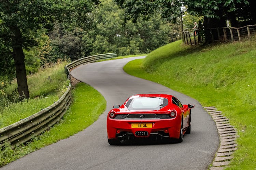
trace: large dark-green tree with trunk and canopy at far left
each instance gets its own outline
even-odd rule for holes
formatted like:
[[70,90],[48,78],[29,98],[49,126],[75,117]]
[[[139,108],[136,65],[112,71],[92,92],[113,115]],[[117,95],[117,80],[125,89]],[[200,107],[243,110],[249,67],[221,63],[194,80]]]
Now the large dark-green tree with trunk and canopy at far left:
[[75,24],[89,27],[88,13],[97,3],[98,0],[0,0],[0,38],[12,49],[21,97],[29,98],[23,48],[37,45],[33,34],[42,28],[51,30],[55,20],[66,23],[66,27]]

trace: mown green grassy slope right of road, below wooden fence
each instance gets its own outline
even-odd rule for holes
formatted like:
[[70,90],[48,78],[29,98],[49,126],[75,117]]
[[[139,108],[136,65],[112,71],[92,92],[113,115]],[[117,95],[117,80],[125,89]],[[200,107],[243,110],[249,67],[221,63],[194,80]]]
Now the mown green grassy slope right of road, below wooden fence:
[[145,60],[128,63],[124,70],[223,111],[240,135],[228,169],[254,169],[255,49],[255,40],[204,47],[188,47],[176,41],[153,51]]

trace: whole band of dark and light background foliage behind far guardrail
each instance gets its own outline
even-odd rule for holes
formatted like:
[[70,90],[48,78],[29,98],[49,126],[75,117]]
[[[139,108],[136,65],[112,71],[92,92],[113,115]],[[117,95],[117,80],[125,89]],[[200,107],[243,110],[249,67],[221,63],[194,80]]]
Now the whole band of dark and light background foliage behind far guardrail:
[[180,39],[177,25],[162,21],[159,14],[152,14],[148,20],[139,17],[137,23],[127,20],[124,25],[124,10],[112,0],[101,1],[90,17],[94,21],[92,29],[81,26],[66,29],[62,23],[56,23],[49,34],[53,50],[44,58],[54,61],[58,56],[76,60],[109,52],[118,55],[148,53]]

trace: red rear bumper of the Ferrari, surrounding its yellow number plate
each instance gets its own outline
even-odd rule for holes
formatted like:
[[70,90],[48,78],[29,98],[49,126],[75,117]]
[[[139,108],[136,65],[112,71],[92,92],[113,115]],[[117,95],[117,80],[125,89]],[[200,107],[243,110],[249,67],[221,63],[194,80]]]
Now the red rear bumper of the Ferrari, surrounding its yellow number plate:
[[[152,128],[132,128],[132,123],[152,123]],[[181,117],[172,119],[122,119],[108,117],[107,132],[109,139],[133,138],[179,138]],[[139,133],[139,134],[138,134]],[[143,133],[143,134],[142,134]]]

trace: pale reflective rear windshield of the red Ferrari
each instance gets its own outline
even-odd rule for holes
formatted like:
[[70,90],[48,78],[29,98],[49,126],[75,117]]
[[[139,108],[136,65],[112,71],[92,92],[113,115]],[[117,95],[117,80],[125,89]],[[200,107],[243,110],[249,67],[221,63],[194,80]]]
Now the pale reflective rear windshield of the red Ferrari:
[[166,98],[161,97],[139,97],[128,100],[126,107],[134,110],[159,110],[168,103]]

